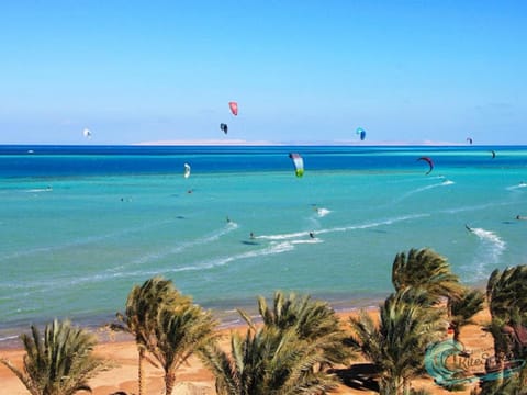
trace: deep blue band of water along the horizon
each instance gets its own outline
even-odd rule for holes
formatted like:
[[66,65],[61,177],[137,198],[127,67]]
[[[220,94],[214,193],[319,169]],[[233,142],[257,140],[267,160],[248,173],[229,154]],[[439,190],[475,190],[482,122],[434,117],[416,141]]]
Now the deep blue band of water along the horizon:
[[[494,160],[492,150],[497,153]],[[64,177],[173,173],[192,161],[202,173],[285,171],[289,153],[300,153],[309,170],[415,170],[421,156],[440,154],[435,166],[522,166],[518,146],[0,146],[0,177]],[[461,154],[461,155],[460,155]]]

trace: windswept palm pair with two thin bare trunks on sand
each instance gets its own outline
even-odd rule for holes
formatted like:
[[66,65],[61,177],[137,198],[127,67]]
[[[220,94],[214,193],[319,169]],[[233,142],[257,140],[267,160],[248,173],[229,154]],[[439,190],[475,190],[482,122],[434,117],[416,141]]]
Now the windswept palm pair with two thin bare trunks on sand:
[[111,328],[132,334],[137,345],[139,395],[146,394],[144,361],[164,370],[165,393],[170,395],[177,370],[217,338],[212,315],[161,276],[135,285],[126,300],[125,314],[117,313],[117,319]]

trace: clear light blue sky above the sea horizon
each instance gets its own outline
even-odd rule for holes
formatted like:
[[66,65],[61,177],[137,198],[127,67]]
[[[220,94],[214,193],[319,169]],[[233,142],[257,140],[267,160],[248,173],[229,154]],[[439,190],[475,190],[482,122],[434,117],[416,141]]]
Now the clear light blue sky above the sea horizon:
[[0,144],[527,145],[526,43],[523,0],[8,0]]

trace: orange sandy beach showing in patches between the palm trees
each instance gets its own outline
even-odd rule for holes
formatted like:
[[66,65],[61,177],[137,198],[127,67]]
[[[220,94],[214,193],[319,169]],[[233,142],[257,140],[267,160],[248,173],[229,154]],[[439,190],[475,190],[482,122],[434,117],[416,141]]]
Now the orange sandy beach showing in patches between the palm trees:
[[[372,312],[373,314],[375,312]],[[356,312],[339,313],[339,318],[346,328],[348,327],[349,316],[356,314]],[[476,321],[487,321],[487,312],[482,312],[478,315]],[[222,334],[225,335],[222,340],[222,347],[228,349],[228,335],[232,330],[245,330],[245,327],[236,327],[229,329],[222,329]],[[481,330],[480,325],[469,325],[461,330],[461,341],[467,350],[470,350],[475,360],[479,356],[489,352],[492,353],[493,341],[492,336]],[[93,395],[109,395],[117,391],[125,391],[128,394],[137,393],[137,351],[135,343],[132,340],[114,340],[101,342],[97,347],[97,352],[103,357],[113,361],[117,366],[106,372],[100,373],[91,381]],[[23,358],[23,350],[0,350],[0,356],[8,358],[16,365],[21,365]],[[356,363],[365,362],[365,360],[356,360],[351,362],[351,365]],[[341,366],[341,373],[345,374],[345,368]],[[483,365],[471,366],[471,372],[482,372]],[[1,394],[9,395],[26,395],[29,392],[20,383],[20,381],[11,373],[4,365],[0,364],[0,382],[2,387]],[[183,366],[177,375],[177,386],[173,394],[200,394],[200,395],[214,395],[214,377],[202,365],[202,363],[195,358],[191,358],[190,363]],[[414,387],[426,387],[434,394],[449,394],[434,384],[430,377],[422,377],[413,382]],[[470,388],[476,384],[467,385],[466,391],[457,392],[460,395],[470,394]],[[164,393],[164,380],[162,371],[156,369],[149,364],[146,364],[146,388],[148,394],[162,394]],[[375,394],[373,391],[360,387],[360,383],[349,382],[341,384],[335,394]]]

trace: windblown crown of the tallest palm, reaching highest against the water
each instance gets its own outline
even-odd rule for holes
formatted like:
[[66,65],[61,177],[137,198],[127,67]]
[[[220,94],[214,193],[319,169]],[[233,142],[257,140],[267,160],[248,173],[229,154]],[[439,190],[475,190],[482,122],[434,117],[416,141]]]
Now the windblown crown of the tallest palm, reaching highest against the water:
[[404,252],[397,253],[392,267],[392,283],[395,291],[424,289],[435,302],[440,297],[459,298],[463,292],[448,260],[428,248],[412,248],[407,256]]

